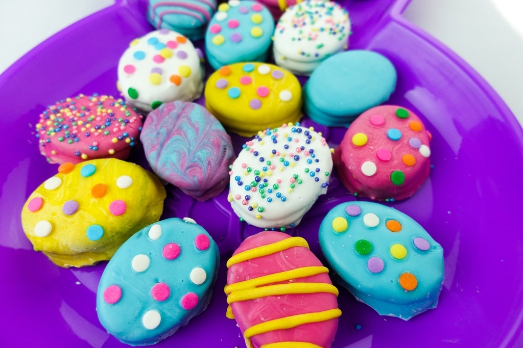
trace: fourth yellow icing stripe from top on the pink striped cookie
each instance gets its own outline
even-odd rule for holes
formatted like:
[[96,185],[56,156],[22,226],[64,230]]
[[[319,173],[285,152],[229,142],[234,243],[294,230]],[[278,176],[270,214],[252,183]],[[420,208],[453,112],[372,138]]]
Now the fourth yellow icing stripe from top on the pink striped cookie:
[[243,333],[243,337],[250,339],[255,335],[260,333],[265,333],[274,330],[285,330],[292,329],[297,326],[308,324],[311,322],[325,321],[329,319],[334,319],[342,315],[342,311],[339,308],[329,309],[317,313],[306,313],[298,314],[289,317],[284,317],[280,319],[269,320],[266,322],[259,323],[251,328],[248,328]]

